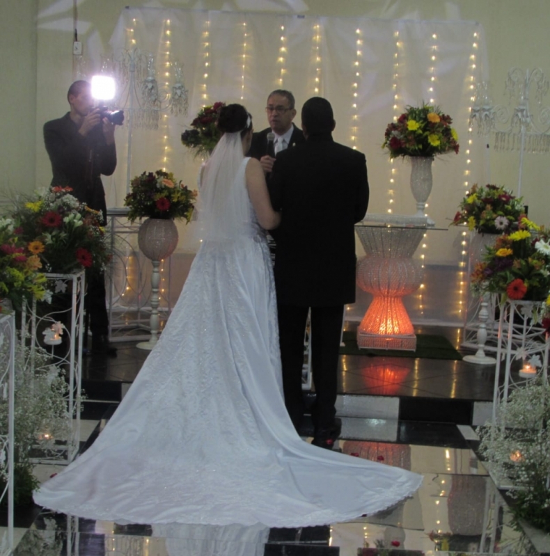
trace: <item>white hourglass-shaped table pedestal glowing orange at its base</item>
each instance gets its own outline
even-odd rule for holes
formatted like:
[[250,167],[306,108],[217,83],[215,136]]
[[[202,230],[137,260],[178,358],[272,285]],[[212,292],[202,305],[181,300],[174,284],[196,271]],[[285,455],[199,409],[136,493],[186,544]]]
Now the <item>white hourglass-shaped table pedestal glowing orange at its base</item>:
[[357,329],[360,348],[416,349],[402,298],[422,283],[421,264],[412,256],[426,229],[427,219],[418,216],[368,215],[355,225],[366,253],[357,265],[357,285],[373,296]]

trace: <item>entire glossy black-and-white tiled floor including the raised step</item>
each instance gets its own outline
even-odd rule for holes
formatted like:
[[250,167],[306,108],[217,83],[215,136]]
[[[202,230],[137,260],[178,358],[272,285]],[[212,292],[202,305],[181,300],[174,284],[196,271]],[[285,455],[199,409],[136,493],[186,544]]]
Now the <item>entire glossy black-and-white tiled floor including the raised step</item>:
[[[446,335],[457,328],[418,328]],[[91,445],[148,355],[134,342],[117,358],[84,359],[83,449]],[[31,508],[17,516],[15,555],[409,556],[459,553],[544,553],[514,525],[510,509],[476,456],[471,425],[492,401],[494,368],[463,361],[341,356],[338,449],[424,476],[411,498],[350,523],[291,530],[264,527],[116,525]],[[478,417],[483,412],[478,413]],[[304,439],[311,434],[304,427]],[[37,466],[40,468],[40,466]],[[37,469],[45,479],[52,466]],[[536,542],[536,540],[535,540]],[[377,552],[375,551],[377,550]]]

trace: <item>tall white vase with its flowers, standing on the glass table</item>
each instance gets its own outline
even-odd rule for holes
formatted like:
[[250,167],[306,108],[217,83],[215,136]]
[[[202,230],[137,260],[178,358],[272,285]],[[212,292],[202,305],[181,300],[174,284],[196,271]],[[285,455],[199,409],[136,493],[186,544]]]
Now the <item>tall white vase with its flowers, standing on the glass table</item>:
[[411,161],[411,191],[416,200],[416,216],[425,216],[425,207],[432,192],[432,162],[447,152],[458,153],[458,135],[452,127],[453,118],[437,106],[407,106],[395,122],[386,127],[382,148],[390,158]]

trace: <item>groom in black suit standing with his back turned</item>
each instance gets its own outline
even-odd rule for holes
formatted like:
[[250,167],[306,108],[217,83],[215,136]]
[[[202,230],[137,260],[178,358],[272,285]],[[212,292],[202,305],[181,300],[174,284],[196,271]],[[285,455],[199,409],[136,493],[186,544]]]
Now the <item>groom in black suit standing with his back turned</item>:
[[282,214],[273,235],[283,388],[298,428],[311,308],[314,443],[331,447],[343,310],[355,301],[354,224],[368,206],[367,168],[364,154],[333,141],[335,122],[327,100],[308,100],[301,118],[306,142],[277,155],[269,180],[273,208]]

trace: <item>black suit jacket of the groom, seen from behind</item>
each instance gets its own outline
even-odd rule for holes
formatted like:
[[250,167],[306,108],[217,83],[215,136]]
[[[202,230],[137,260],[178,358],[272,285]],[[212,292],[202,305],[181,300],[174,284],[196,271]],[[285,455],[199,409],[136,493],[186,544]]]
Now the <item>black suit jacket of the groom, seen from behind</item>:
[[277,154],[269,180],[281,225],[277,244],[277,302],[323,307],[355,301],[355,230],[368,206],[365,155],[330,134]]

